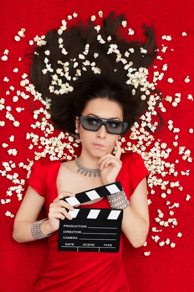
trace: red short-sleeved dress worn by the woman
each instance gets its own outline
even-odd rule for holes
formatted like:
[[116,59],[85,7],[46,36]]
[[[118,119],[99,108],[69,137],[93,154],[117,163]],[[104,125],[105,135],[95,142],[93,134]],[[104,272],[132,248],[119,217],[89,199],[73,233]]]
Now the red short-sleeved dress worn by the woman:
[[[121,182],[130,201],[135,188],[149,172],[143,158],[136,152],[122,153],[120,160],[123,164],[115,181]],[[47,218],[49,205],[58,196],[56,181],[62,161],[39,160],[32,165],[29,185],[45,197]],[[104,197],[101,201],[79,207],[110,208],[110,205]],[[58,251],[58,230],[48,240],[48,256],[32,292],[129,292],[122,263],[122,232],[118,253]]]

